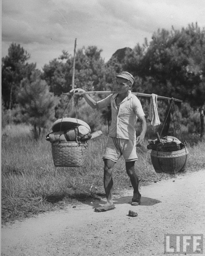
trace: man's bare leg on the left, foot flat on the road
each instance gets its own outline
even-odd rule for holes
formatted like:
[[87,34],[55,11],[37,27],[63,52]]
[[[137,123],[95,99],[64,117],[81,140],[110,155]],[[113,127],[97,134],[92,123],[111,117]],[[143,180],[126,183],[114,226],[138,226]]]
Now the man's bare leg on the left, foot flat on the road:
[[95,208],[96,212],[108,211],[114,209],[114,204],[112,202],[112,191],[113,191],[113,180],[112,180],[112,171],[115,162],[110,159],[104,159],[104,189],[107,198],[105,205]]

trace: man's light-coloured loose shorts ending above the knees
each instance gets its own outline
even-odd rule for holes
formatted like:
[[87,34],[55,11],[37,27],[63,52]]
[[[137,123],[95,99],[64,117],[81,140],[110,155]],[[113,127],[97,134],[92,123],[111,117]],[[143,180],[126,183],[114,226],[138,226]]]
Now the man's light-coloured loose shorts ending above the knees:
[[136,141],[108,137],[107,146],[104,150],[102,159],[110,159],[117,163],[122,155],[125,162],[136,161]]

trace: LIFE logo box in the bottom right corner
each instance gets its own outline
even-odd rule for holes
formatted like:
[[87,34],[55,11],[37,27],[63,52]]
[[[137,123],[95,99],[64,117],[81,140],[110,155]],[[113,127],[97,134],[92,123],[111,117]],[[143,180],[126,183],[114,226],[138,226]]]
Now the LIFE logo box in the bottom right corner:
[[165,254],[203,254],[203,234],[164,234]]

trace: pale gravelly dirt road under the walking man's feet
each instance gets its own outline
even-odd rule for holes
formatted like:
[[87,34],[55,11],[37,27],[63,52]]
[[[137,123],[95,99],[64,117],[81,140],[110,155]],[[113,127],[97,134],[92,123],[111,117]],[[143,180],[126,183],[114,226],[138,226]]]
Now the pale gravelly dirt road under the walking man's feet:
[[205,170],[140,192],[140,206],[130,205],[130,190],[115,195],[111,211],[94,212],[104,202],[93,201],[4,226],[2,255],[164,255],[164,234],[205,235]]

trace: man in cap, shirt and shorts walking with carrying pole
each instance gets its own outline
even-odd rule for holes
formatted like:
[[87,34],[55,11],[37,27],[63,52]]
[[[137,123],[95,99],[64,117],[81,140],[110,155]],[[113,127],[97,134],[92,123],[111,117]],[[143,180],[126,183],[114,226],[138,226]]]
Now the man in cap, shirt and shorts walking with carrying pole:
[[[143,144],[144,135],[147,130],[145,115],[139,99],[129,90],[134,77],[128,72],[122,72],[116,76],[117,92],[109,95],[100,101],[95,101],[87,94],[83,94],[86,102],[92,108],[103,108],[111,106],[112,122],[109,130],[109,138],[106,149],[104,150],[104,189],[107,198],[105,205],[95,208],[96,212],[114,209],[112,201],[113,166],[123,155],[126,164],[127,175],[130,177],[134,192],[131,205],[139,205],[141,194],[138,190],[139,178],[135,173],[134,165],[137,160],[136,146]],[[82,89],[73,89],[70,92],[85,92]],[[137,118],[142,124],[142,132],[136,138],[135,123]]]

